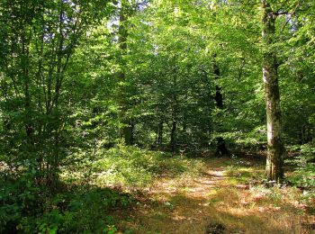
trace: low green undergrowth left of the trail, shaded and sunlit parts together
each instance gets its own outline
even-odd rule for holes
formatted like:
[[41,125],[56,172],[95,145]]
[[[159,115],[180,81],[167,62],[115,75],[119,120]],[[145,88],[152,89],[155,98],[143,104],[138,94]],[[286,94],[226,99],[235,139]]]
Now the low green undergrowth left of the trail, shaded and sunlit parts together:
[[202,162],[136,147],[99,148],[76,155],[61,168],[50,191],[34,175],[4,179],[0,187],[0,233],[115,233],[112,211],[130,209],[132,191],[158,177],[193,176]]

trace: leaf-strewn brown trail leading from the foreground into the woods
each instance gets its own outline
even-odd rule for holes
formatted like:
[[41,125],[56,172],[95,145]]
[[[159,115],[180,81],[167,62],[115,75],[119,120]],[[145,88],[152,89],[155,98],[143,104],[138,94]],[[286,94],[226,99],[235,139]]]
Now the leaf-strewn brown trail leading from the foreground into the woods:
[[[224,161],[205,162],[198,177],[160,178],[146,191],[146,199],[139,203],[129,226],[136,233],[211,233],[218,221],[216,210],[211,210],[211,194],[229,186]],[[236,187],[243,187],[237,185]],[[220,233],[220,232],[218,232]]]

